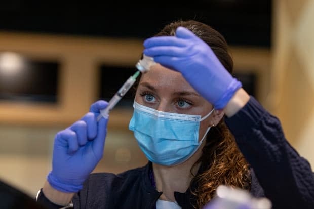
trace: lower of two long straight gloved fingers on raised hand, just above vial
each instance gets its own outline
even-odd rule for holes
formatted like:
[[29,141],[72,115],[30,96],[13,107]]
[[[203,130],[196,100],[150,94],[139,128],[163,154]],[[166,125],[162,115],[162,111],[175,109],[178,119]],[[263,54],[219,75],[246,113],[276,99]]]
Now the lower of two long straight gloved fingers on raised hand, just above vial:
[[[144,54],[150,57],[154,56],[173,56],[186,57],[191,53],[187,47],[159,46],[144,49]],[[154,60],[155,61],[155,60]]]

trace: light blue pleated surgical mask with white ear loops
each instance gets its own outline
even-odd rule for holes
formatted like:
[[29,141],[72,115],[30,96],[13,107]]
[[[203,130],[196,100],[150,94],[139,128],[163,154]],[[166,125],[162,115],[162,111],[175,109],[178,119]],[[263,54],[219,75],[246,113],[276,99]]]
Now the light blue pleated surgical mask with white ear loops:
[[134,102],[129,129],[151,162],[174,166],[186,161],[201,146],[210,127],[199,142],[200,122],[206,116],[163,112]]

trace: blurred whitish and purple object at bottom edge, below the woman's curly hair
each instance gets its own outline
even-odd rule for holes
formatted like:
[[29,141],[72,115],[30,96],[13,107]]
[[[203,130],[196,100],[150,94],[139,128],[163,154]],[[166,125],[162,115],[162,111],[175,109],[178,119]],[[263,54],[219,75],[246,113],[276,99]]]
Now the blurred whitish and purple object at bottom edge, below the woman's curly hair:
[[248,191],[220,185],[216,197],[203,209],[270,209],[267,198],[255,198]]

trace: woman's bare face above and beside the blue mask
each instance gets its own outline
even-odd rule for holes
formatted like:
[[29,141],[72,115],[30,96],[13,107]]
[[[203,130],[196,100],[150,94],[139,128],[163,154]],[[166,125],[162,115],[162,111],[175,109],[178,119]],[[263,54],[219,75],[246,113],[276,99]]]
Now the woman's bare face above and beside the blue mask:
[[[202,117],[213,109],[213,106],[189,85],[181,73],[160,64],[151,66],[150,71],[142,74],[135,101],[159,111]],[[213,124],[212,115],[201,122],[199,140]]]

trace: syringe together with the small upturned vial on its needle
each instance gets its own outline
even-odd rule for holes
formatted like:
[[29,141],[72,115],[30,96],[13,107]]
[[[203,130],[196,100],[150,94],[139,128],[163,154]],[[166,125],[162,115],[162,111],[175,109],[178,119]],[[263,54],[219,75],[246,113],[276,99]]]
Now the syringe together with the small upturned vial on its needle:
[[100,114],[97,117],[97,121],[101,119],[101,117],[108,118],[109,111],[121,100],[121,98],[129,91],[129,89],[133,86],[136,78],[139,76],[140,72],[145,73],[149,71],[150,66],[156,64],[153,61],[152,57],[148,57],[143,55],[143,59],[139,60],[136,63],[136,68],[138,71],[134,73],[129,79],[124,83],[124,85],[115,93],[115,95],[110,99],[108,106],[105,109],[100,110]]

